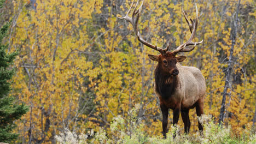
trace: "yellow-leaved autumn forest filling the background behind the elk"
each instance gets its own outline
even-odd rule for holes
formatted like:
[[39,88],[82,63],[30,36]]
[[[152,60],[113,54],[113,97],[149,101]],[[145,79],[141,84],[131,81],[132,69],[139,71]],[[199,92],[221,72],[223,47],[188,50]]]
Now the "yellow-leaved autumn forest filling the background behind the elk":
[[[217,123],[231,48],[237,1],[144,1],[139,29],[150,43],[173,50],[190,37],[188,17],[199,9],[194,41],[203,43],[182,65],[199,68],[206,79],[205,113]],[[11,21],[8,53],[18,51],[12,91],[16,103],[30,110],[20,121],[16,143],[55,143],[65,128],[81,133],[108,131],[113,117],[128,117],[139,104],[138,117],[148,135],[161,135],[161,111],[154,93],[154,68],[124,16],[131,1],[5,1],[0,25]],[[235,133],[256,121],[255,1],[241,1],[224,125]],[[195,110],[191,133],[197,131]],[[172,122],[172,112],[168,118]],[[178,123],[183,127],[181,121]],[[169,124],[170,125],[170,124]]]

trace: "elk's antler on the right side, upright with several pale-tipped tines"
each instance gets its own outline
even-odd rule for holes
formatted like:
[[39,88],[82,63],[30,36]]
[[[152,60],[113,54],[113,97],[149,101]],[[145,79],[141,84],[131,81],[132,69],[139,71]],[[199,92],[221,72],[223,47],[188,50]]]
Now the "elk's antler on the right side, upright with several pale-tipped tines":
[[[195,6],[196,6],[196,5],[195,5]],[[192,39],[193,39],[194,36],[195,36],[196,29],[197,29],[197,24],[198,24],[198,11],[197,11],[197,7],[196,7],[196,19],[195,19],[195,22],[194,22],[192,19],[190,19],[190,21],[191,21],[192,24],[188,21],[188,18],[187,18],[187,16],[185,15],[183,9],[182,9],[182,12],[183,12],[183,15],[184,15],[184,17],[185,17],[187,23],[188,23],[189,30],[190,30],[190,32],[191,32],[191,36],[190,36],[190,38],[189,38],[189,40],[188,40],[187,42],[185,42],[184,44],[178,46],[176,50],[172,51],[172,53],[173,53],[174,55],[176,55],[176,54],[179,53],[179,52],[189,52],[189,51],[192,51],[192,50],[195,49],[195,46],[196,46],[196,45],[202,44],[202,41],[203,41],[203,40],[200,41],[200,42],[193,42],[193,41],[192,41]],[[193,28],[193,31],[191,31],[192,28]],[[184,49],[186,46],[189,46],[189,45],[194,45],[194,46],[191,47],[190,49]]]

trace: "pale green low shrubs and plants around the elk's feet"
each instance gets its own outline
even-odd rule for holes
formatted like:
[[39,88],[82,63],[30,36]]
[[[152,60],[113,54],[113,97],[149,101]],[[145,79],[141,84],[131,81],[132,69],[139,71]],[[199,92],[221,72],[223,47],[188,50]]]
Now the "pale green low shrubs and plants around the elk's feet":
[[[73,133],[68,128],[59,135],[55,136],[57,143],[256,143],[256,131],[246,128],[241,135],[236,135],[230,125],[220,127],[214,123],[211,115],[199,117],[203,124],[203,132],[195,134],[183,134],[179,126],[171,125],[171,130],[167,133],[167,139],[162,136],[149,136],[143,130],[144,123],[138,118],[138,107],[136,106],[129,112],[128,119],[125,120],[120,115],[113,118],[110,124],[109,134],[100,129],[97,133],[93,129],[83,131],[81,134]],[[176,138],[173,139],[173,135]]]

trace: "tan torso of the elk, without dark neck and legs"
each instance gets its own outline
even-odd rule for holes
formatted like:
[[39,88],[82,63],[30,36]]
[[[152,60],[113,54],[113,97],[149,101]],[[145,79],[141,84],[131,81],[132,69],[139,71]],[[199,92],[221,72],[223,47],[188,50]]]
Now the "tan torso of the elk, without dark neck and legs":
[[[202,76],[202,73],[199,69],[195,67],[186,67],[181,64],[176,64],[177,69],[179,70],[178,77],[178,86],[176,91],[174,91],[172,97],[167,100],[162,98],[156,89],[155,83],[155,92],[159,97],[160,105],[165,104],[170,109],[174,109],[176,103],[181,103],[181,109],[184,108],[193,108],[197,100],[202,99],[205,95],[206,86],[205,78]],[[172,81],[172,77],[166,80],[166,84]]]

